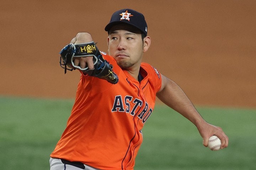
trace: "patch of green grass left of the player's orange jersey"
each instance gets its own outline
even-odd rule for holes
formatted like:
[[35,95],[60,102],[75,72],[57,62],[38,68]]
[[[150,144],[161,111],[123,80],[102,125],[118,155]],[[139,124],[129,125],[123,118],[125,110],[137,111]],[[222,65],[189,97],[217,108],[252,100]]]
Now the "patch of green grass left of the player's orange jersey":
[[49,154],[72,104],[71,100],[0,98],[0,169],[49,169]]

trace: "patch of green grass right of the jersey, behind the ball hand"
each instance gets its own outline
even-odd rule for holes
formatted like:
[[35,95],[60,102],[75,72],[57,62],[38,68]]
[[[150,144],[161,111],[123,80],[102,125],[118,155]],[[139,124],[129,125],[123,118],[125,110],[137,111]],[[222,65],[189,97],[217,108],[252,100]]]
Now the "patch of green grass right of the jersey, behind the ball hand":
[[155,108],[143,128],[135,170],[256,169],[256,110],[197,108],[209,123],[223,128],[229,147],[211,151],[197,128],[166,106]]

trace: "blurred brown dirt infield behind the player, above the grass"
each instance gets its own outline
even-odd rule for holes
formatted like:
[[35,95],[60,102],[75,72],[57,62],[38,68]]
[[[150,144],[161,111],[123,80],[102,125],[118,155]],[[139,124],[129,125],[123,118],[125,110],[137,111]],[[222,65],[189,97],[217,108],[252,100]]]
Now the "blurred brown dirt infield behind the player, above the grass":
[[79,72],[59,67],[60,49],[103,30],[116,10],[144,13],[152,42],[144,62],[173,79],[196,105],[256,108],[255,0],[3,1],[0,95],[74,98]]

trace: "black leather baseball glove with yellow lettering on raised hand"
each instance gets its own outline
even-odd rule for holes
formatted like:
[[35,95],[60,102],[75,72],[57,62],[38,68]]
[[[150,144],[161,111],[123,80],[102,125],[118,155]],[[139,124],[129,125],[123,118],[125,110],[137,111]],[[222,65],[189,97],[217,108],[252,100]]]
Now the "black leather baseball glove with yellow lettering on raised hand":
[[[65,73],[66,70],[72,71],[77,68],[89,76],[105,79],[112,84],[118,82],[118,77],[112,70],[113,66],[102,57],[102,54],[93,41],[86,44],[68,44],[64,46],[59,54],[60,66],[65,69]],[[74,64],[75,57],[87,56],[93,56],[93,70],[90,70],[88,67],[81,68]],[[67,68],[67,66],[72,69]]]

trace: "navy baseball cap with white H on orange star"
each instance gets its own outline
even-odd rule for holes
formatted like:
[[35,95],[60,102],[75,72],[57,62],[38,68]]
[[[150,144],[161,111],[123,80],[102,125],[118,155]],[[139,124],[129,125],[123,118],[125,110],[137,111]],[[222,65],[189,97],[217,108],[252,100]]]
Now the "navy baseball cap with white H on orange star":
[[114,12],[111,16],[110,22],[105,27],[105,31],[109,32],[112,26],[119,23],[132,25],[138,28],[145,35],[148,33],[148,26],[144,15],[132,9],[122,9]]

